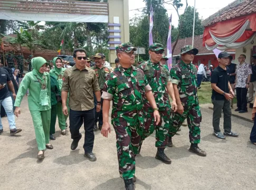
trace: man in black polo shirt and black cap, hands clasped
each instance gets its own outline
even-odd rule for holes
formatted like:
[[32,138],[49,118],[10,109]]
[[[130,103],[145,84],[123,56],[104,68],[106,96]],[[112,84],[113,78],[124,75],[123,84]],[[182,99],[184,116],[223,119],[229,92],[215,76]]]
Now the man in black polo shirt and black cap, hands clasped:
[[[212,103],[213,103],[213,135],[225,139],[224,135],[238,137],[231,130],[231,108],[230,100],[234,98],[234,92],[230,86],[230,71],[226,67],[229,64],[229,54],[221,52],[218,56],[219,67],[212,73]],[[224,113],[224,135],[220,130],[221,112]]]

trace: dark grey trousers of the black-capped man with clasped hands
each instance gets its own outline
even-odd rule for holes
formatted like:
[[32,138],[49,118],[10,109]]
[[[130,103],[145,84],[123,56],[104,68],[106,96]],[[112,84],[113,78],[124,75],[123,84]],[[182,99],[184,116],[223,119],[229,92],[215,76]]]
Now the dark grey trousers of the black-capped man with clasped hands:
[[223,110],[224,115],[224,122],[223,127],[224,130],[227,132],[231,131],[231,108],[230,108],[230,101],[229,100],[213,100],[213,118],[212,118],[212,125],[215,132],[220,132],[220,118],[221,113]]

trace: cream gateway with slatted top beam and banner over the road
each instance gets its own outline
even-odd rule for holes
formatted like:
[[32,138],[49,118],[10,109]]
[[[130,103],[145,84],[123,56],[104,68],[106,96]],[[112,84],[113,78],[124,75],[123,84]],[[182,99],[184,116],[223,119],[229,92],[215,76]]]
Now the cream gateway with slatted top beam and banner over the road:
[[128,0],[108,0],[108,3],[71,0],[0,0],[0,19],[108,23],[111,63],[115,63],[116,59],[115,46],[129,41]]

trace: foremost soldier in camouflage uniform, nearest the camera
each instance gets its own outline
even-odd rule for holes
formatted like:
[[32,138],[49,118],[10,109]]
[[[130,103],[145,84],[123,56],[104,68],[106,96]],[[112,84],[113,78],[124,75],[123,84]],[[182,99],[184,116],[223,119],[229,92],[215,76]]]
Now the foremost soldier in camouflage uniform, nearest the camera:
[[112,100],[111,123],[116,132],[119,173],[126,189],[135,189],[135,157],[141,145],[144,125],[143,99],[146,97],[154,108],[154,118],[160,121],[151,87],[140,69],[132,66],[136,48],[131,43],[116,47],[120,64],[106,79],[103,93],[103,126],[101,134],[108,137],[110,101]]

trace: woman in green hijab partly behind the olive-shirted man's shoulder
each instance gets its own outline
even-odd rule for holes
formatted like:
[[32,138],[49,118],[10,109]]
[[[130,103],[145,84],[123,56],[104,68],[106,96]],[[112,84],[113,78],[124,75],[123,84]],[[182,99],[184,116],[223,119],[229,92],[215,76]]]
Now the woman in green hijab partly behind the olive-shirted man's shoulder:
[[56,118],[58,116],[59,127],[61,129],[61,134],[66,135],[66,121],[68,116],[64,116],[62,112],[62,102],[61,102],[61,88],[62,88],[62,78],[63,73],[66,68],[62,68],[61,58],[53,58],[52,63],[54,68],[50,71],[51,77],[51,127],[50,127],[50,139],[55,140],[53,134],[55,134],[55,124]]

